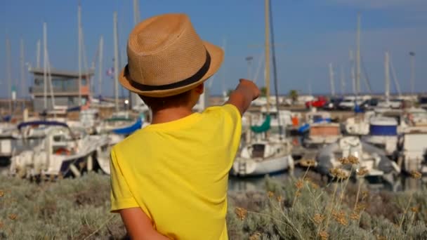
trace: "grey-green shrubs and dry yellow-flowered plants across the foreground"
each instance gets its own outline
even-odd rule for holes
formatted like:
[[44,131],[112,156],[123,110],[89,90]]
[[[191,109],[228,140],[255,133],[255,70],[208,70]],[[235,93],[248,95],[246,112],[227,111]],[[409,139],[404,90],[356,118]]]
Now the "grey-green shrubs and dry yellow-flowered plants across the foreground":
[[[352,164],[346,161],[343,164]],[[336,181],[323,185],[308,171],[310,162],[306,166],[303,178],[275,182],[267,177],[265,189],[230,193],[230,239],[427,236],[426,189],[369,192],[363,181],[348,180],[354,175],[353,167],[350,172],[334,169],[331,174]],[[413,177],[420,176],[414,173]],[[77,179],[39,184],[0,177],[0,239],[122,239],[126,231],[121,219],[109,209],[107,175],[88,173]]]

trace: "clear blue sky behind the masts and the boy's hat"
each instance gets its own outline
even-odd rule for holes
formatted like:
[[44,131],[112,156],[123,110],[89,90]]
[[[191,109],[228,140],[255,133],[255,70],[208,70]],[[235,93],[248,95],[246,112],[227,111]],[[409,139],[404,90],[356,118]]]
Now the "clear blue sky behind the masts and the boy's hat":
[[[313,94],[331,92],[329,64],[334,69],[336,93],[341,93],[341,69],[346,93],[352,91],[349,51],[356,48],[357,13],[361,15],[361,55],[372,92],[384,91],[384,55],[389,51],[402,92],[411,90],[411,58],[415,55],[415,90],[427,92],[427,1],[426,0],[271,0],[277,79],[280,93],[291,89]],[[96,58],[100,36],[104,38],[103,95],[114,93],[112,67],[113,12],[117,11],[121,67],[126,65],[126,41],[133,28],[132,0],[81,0],[87,67]],[[78,0],[0,1],[0,97],[8,96],[6,39],[11,42],[13,84],[20,80],[20,39],[25,62],[36,65],[37,41],[43,22],[48,27],[48,54],[56,69],[77,71]],[[262,0],[140,0],[140,18],[162,13],[186,13],[202,39],[225,48],[221,69],[207,82],[218,95],[235,88],[239,78],[264,86],[264,1]],[[254,60],[248,65],[248,56]],[[43,62],[43,61],[41,61]],[[98,62],[96,62],[98,67]],[[98,70],[96,70],[98,71]],[[258,74],[256,74],[258,73]],[[248,76],[249,75],[249,76]],[[272,75],[271,75],[272,76]],[[393,76],[393,74],[392,74]],[[32,76],[25,77],[25,88]],[[98,94],[98,74],[93,79]],[[395,91],[394,84],[391,91]],[[271,88],[273,91],[273,88]],[[361,89],[367,86],[361,80]],[[126,94],[126,91],[119,91]],[[27,93],[25,93],[27,95]]]

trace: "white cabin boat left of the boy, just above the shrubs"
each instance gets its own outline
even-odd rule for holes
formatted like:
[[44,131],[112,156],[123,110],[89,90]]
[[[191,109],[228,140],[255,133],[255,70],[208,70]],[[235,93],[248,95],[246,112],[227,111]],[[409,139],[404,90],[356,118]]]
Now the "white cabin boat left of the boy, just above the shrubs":
[[11,158],[11,175],[20,178],[79,177],[84,171],[96,170],[97,152],[108,145],[106,135],[87,135],[72,131],[65,123],[44,121],[50,126],[45,138],[33,149]]

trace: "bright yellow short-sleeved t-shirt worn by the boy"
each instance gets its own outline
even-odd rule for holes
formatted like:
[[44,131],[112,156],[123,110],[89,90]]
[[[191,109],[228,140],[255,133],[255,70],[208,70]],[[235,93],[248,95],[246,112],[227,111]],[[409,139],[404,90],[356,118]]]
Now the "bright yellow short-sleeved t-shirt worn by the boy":
[[228,239],[228,172],[242,131],[233,105],[147,126],[111,152],[111,211],[140,207],[171,239]]

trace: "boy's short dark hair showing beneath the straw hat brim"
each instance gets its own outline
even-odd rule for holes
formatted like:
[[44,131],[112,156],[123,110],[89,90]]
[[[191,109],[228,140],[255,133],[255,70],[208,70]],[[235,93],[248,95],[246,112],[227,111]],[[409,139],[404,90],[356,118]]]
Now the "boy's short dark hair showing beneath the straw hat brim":
[[186,105],[188,101],[190,101],[190,95],[191,90],[164,98],[154,98],[144,95],[139,95],[139,97],[145,102],[148,107],[150,107],[150,109],[158,110],[167,107],[178,107]]

